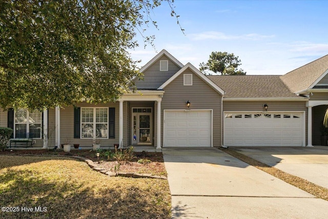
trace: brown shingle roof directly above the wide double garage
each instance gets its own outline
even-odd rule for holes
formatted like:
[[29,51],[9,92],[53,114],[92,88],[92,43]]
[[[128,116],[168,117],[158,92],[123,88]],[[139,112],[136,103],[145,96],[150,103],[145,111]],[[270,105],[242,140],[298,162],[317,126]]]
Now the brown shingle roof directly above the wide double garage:
[[280,75],[209,75],[226,91],[224,98],[300,98],[281,81]]

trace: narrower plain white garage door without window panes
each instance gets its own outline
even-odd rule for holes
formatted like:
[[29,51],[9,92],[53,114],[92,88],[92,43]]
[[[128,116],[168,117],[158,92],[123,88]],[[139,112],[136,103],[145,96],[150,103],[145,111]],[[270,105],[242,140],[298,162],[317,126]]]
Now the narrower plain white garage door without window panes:
[[163,147],[211,147],[212,110],[164,110]]

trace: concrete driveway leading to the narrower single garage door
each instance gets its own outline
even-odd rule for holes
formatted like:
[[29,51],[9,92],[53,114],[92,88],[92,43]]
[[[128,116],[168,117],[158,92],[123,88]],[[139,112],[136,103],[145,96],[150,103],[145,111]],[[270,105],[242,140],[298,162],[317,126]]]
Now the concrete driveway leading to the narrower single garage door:
[[328,218],[328,202],[215,148],[162,149],[172,218]]

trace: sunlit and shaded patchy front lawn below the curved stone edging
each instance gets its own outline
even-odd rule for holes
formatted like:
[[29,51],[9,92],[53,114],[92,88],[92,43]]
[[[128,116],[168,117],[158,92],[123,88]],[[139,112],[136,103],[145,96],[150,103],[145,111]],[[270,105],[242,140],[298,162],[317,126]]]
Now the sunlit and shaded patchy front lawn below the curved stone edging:
[[166,180],[109,177],[66,157],[0,156],[0,207],[16,206],[0,218],[171,217]]

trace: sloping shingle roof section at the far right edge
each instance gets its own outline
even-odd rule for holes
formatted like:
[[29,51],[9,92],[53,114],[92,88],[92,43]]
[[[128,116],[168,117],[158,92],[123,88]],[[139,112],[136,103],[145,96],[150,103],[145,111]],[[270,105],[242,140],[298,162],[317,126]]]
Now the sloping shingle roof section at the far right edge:
[[313,88],[328,73],[328,55],[280,76],[293,93]]

